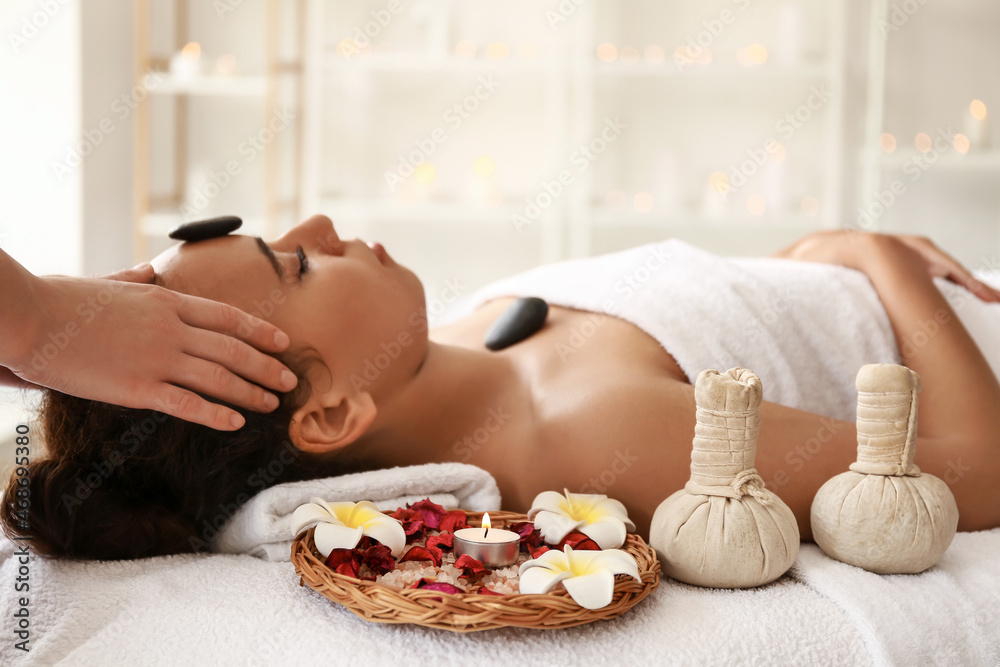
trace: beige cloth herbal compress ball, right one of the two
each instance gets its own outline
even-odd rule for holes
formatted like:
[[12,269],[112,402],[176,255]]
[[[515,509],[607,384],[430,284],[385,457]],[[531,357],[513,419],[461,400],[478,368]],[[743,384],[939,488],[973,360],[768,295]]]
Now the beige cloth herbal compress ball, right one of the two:
[[862,366],[858,460],[820,487],[813,539],[832,558],[879,574],[922,572],[958,528],[948,486],[913,464],[920,376],[896,364]]

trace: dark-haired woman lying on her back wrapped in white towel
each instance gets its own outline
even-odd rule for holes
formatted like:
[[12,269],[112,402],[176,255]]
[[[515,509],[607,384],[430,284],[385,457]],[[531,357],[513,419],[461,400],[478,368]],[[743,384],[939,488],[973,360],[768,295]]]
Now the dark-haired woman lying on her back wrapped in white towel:
[[[1000,526],[1000,292],[919,237],[821,232],[775,257],[786,261],[667,241],[565,262],[482,290],[464,318],[428,331],[419,279],[324,216],[269,244],[174,246],[153,261],[157,281],[287,332],[280,358],[298,387],[270,414],[241,410],[233,432],[47,391],[49,458],[31,464],[27,530],[51,555],[192,551],[203,521],[265,486],[464,461],[492,473],[504,509],[524,512],[544,490],[606,493],[648,537],[689,476],[693,380],[742,366],[764,387],[757,470],[810,539],[813,496],[856,457],[866,363],[920,375],[916,463],[949,484],[960,530]],[[946,298],[934,277],[968,291],[947,284]],[[487,350],[520,295],[552,304],[546,324]],[[959,317],[979,318],[978,340]],[[275,460],[278,477],[257,474]],[[22,534],[9,503],[2,520]]]

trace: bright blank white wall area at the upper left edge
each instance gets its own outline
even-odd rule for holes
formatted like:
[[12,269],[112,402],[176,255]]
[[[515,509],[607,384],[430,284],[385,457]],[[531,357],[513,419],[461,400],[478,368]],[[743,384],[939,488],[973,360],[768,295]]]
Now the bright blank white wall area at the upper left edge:
[[[82,268],[80,0],[0,3],[0,247],[35,273]],[[50,9],[51,11],[51,9]]]

